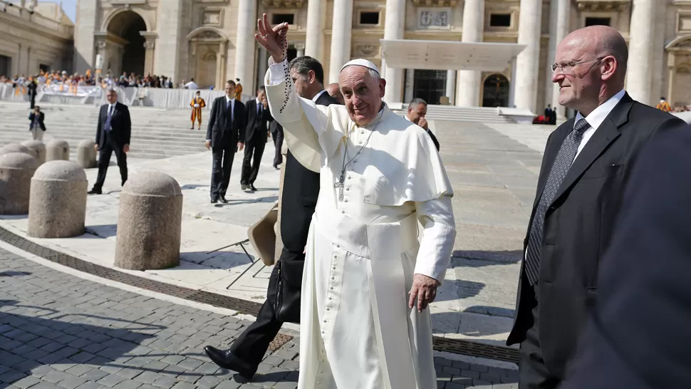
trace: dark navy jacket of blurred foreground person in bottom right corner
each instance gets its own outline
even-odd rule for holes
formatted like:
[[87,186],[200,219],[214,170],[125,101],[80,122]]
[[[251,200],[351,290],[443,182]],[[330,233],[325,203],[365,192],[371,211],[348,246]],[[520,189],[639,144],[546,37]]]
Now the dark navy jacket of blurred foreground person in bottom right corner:
[[562,389],[691,388],[691,128],[640,153]]

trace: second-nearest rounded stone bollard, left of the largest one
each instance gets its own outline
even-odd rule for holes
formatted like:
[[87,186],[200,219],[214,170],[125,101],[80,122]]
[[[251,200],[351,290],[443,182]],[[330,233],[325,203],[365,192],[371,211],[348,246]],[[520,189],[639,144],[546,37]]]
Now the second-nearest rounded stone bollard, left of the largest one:
[[70,238],[84,234],[88,182],[77,162],[48,161],[31,178],[29,237]]

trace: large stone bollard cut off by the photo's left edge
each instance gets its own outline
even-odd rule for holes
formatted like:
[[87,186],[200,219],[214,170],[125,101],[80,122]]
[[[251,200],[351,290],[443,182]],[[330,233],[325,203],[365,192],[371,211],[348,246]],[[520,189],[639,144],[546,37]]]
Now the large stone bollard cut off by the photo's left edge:
[[38,160],[24,152],[0,155],[0,214],[28,213],[31,177]]

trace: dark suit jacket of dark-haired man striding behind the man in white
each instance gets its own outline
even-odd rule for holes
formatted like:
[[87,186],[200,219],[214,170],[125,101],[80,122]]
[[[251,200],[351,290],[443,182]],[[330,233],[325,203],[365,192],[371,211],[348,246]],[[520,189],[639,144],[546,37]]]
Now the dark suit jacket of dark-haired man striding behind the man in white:
[[[318,105],[338,104],[328,93],[322,93],[316,100]],[[307,232],[319,197],[319,173],[300,165],[288,152],[286,175],[283,183],[281,207],[281,239],[284,244],[282,259],[304,260],[303,250],[307,244]]]

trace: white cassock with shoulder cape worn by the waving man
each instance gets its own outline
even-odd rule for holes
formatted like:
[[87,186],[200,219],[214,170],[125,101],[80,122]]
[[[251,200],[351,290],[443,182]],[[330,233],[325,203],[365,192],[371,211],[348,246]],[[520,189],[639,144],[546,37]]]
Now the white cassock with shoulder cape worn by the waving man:
[[285,61],[269,64],[271,113],[291,153],[321,173],[302,282],[298,389],[437,388],[430,310],[407,306],[413,274],[444,279],[456,235],[435,145],[387,107],[358,127],[343,105],[299,98]]

